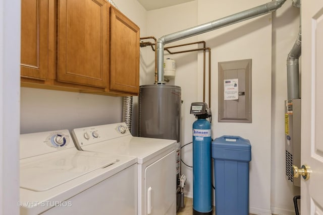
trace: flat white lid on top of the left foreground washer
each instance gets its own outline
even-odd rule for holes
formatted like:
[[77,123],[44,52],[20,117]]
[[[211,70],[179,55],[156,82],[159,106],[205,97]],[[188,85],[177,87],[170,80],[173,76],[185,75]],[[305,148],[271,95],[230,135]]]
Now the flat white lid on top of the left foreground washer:
[[76,149],[21,159],[20,187],[45,191],[116,162],[102,153]]

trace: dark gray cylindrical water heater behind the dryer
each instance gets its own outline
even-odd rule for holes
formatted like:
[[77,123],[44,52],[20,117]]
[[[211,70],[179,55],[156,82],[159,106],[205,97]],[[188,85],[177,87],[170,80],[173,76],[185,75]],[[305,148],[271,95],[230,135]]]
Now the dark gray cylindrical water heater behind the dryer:
[[139,88],[139,129],[142,137],[177,140],[177,175],[180,173],[181,88],[143,85]]

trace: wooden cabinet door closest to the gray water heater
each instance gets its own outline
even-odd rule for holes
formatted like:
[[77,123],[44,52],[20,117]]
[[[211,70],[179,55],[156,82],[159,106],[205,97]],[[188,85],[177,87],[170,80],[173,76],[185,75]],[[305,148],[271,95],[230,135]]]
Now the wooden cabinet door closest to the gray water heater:
[[139,93],[139,27],[111,7],[110,90]]

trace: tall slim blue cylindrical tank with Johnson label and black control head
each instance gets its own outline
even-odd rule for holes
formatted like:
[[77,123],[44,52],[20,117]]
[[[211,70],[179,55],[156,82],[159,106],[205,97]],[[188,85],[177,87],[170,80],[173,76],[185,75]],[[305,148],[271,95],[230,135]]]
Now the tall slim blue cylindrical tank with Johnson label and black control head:
[[204,102],[194,102],[193,123],[193,215],[212,214],[211,187],[211,123],[210,111]]

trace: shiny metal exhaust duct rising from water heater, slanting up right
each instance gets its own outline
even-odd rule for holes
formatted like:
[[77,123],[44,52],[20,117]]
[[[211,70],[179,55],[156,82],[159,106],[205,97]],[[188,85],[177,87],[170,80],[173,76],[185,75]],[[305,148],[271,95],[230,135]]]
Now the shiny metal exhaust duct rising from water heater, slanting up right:
[[275,0],[264,5],[248,9],[212,22],[178,31],[172,34],[160,37],[157,41],[157,84],[165,84],[164,82],[164,46],[167,43],[175,42],[188,37],[196,36],[222,27],[226,27],[244,20],[268,14],[279,9],[286,0]]

